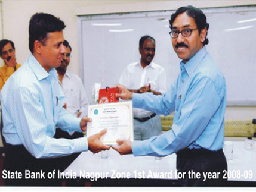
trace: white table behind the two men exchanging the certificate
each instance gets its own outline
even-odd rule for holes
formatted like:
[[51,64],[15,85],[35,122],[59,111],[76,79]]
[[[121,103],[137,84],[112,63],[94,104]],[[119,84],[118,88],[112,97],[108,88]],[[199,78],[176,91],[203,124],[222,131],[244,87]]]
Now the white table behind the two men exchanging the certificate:
[[[233,159],[227,160],[228,181],[252,181],[256,185],[256,147],[245,150],[243,141],[233,141]],[[101,154],[83,152],[63,172],[87,181],[98,180],[177,180],[176,155],[168,155],[157,159],[153,156],[134,157],[119,155],[113,149],[109,150],[107,159]]]

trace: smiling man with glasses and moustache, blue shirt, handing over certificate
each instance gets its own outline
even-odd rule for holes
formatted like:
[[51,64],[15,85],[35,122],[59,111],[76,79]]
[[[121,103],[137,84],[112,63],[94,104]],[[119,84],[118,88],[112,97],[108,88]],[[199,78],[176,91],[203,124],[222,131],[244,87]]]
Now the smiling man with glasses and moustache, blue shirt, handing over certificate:
[[[118,97],[132,99],[133,105],[156,114],[174,111],[172,129],[158,137],[134,143],[118,140],[113,146],[119,153],[134,156],[166,156],[177,153],[177,170],[185,177],[180,185],[223,185],[223,170],[227,169],[223,153],[226,82],[205,45],[209,24],[198,8],[178,8],[169,21],[172,46],[180,63],[180,74],[168,92],[162,96],[141,95],[117,85]],[[193,180],[188,172],[199,172]],[[219,173],[217,179],[203,181],[203,173]]]

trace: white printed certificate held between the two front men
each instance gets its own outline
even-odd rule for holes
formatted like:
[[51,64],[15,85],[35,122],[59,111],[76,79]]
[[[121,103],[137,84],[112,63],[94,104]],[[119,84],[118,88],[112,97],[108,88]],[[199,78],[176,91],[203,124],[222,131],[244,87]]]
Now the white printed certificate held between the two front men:
[[87,137],[107,128],[101,137],[104,144],[117,144],[116,139],[134,140],[132,102],[116,102],[88,106]]

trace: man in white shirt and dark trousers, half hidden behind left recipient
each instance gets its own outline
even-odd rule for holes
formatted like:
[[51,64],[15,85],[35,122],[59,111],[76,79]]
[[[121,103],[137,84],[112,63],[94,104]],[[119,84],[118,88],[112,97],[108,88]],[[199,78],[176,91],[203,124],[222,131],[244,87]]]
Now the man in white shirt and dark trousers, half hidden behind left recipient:
[[[67,70],[67,66],[69,66],[70,62],[72,48],[67,40],[64,40],[63,45],[64,52],[61,53],[62,61],[56,70],[58,73],[58,79],[60,80],[61,86],[63,88],[64,95],[66,96],[64,108],[67,110],[67,112],[70,112],[70,114],[79,117],[83,111],[87,111],[88,100],[81,79],[78,77],[78,75],[73,74]],[[57,128],[54,137],[76,139],[83,136],[84,134],[82,132],[73,131],[71,133],[67,133],[67,131],[63,131],[60,128]],[[73,153],[72,155],[60,158],[60,163],[63,163],[63,169],[66,168],[67,165],[70,165],[70,163],[72,163],[79,154],[80,153]]]

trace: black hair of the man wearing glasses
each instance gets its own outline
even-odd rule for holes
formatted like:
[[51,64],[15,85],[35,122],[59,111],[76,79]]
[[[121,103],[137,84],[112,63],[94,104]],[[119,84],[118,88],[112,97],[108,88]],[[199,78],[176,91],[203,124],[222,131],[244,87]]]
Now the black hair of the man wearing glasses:
[[[178,8],[178,10],[176,10],[176,12],[174,12],[174,14],[171,15],[171,20],[169,20],[169,27],[171,29],[172,29],[172,24],[173,24],[175,18],[179,14],[182,14],[185,11],[189,17],[192,17],[195,20],[196,26],[198,27],[199,35],[200,35],[202,29],[204,29],[204,28],[206,28],[207,30],[209,29],[209,23],[207,23],[207,21],[206,21],[205,14],[199,8],[195,8],[191,5],[186,6],[186,7],[180,7],[180,8]],[[207,33],[206,33],[205,41],[203,42],[203,45],[207,45],[209,43],[209,40],[206,37],[207,37]]]

